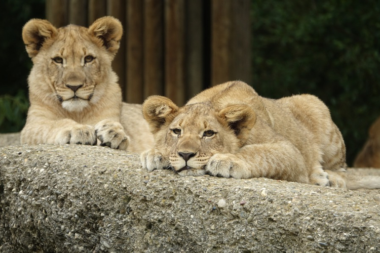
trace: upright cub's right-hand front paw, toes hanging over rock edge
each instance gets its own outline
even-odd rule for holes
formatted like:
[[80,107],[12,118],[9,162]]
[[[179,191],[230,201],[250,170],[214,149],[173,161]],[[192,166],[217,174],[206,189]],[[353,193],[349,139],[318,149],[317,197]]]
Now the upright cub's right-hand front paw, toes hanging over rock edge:
[[125,134],[121,123],[117,121],[104,119],[95,125],[95,132],[101,146],[121,150],[126,150],[128,147],[129,137]]

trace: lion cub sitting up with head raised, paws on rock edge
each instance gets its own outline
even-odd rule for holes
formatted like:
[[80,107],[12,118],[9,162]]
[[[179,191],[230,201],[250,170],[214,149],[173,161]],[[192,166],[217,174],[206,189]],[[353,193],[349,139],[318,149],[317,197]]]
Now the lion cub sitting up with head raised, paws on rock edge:
[[86,144],[142,152],[153,145],[141,105],[122,103],[111,62],[123,27],[103,17],[89,28],[55,28],[32,19],[22,30],[33,61],[28,83],[30,108],[21,143]]

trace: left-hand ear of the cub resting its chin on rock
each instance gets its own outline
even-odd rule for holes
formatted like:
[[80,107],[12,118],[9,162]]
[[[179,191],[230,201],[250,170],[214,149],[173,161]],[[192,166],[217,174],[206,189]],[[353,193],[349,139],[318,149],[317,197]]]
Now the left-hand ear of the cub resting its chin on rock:
[[142,104],[142,113],[155,134],[163,125],[171,123],[178,112],[178,106],[163,96],[150,96]]

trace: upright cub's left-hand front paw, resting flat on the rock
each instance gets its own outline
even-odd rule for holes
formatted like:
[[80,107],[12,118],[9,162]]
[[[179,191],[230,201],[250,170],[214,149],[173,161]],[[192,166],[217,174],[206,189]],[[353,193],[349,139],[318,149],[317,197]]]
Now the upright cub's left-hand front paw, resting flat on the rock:
[[95,129],[91,125],[74,126],[70,130],[62,131],[56,136],[56,143],[59,144],[84,144],[95,145]]

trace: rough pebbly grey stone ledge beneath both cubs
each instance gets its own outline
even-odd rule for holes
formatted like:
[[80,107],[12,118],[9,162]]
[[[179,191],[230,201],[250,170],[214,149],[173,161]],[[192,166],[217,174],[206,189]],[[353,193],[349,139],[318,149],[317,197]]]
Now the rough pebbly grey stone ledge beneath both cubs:
[[148,173],[106,147],[0,148],[0,201],[0,252],[380,251],[377,190]]

